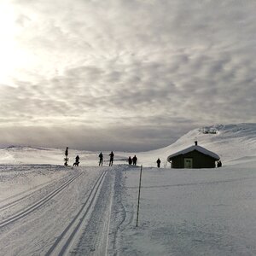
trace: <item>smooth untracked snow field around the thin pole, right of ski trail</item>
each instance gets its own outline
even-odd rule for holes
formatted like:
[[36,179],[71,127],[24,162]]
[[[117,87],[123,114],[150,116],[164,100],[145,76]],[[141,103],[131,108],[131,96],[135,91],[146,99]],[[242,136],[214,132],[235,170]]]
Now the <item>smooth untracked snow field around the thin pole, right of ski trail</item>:
[[256,255],[256,165],[127,172],[119,255]]

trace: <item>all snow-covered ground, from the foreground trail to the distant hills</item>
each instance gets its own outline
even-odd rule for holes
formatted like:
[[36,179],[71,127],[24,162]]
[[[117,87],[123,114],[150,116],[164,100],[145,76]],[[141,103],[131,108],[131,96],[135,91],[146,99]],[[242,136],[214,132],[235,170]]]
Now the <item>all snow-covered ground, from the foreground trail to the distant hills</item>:
[[[167,156],[195,141],[223,167],[171,169]],[[0,255],[256,255],[256,124],[196,129],[150,152],[114,152],[112,167],[109,153],[98,167],[98,152],[71,149],[70,162],[76,154],[81,161],[73,168],[62,166],[61,149],[0,149]],[[134,154],[138,166],[127,166]]]

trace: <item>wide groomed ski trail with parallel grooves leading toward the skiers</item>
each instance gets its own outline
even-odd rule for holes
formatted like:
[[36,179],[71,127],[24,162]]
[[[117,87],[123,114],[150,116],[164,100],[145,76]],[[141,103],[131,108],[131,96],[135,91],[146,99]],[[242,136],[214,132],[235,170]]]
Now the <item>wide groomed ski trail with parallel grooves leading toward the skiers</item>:
[[[93,168],[96,170],[95,173]],[[1,244],[2,246],[9,244],[10,237],[14,237],[16,242],[15,247],[11,248],[12,253],[6,253],[10,251],[10,247],[6,247],[5,253],[0,253],[0,255],[117,255],[120,231],[123,226],[130,224],[133,218],[130,216],[131,214],[130,218],[127,217],[120,196],[125,182],[123,177],[125,168],[127,167],[92,167],[90,171],[93,172],[90,172],[90,176],[87,175],[87,169],[83,167],[78,168],[79,172],[75,173],[67,169],[65,177],[42,183],[32,190],[28,189],[20,195],[12,195],[4,199],[3,201],[6,203],[0,207],[3,218],[0,221],[0,235],[4,238]],[[86,184],[86,187],[80,190],[83,183]],[[67,191],[63,193],[66,189]],[[79,195],[81,201],[79,200],[78,207],[65,209],[66,202],[63,200],[71,191],[76,191],[75,193],[77,196]],[[56,195],[60,196],[53,200]],[[49,201],[51,202],[48,203]],[[71,212],[71,214],[68,213],[69,217],[67,218],[65,213],[66,217],[60,221],[62,226],[58,224],[55,227],[57,229],[53,236],[46,236],[46,240],[44,239],[42,224],[39,224],[40,230],[38,230],[37,238],[31,240],[31,244],[34,243],[32,247],[29,247],[28,244],[20,244],[20,238],[17,235],[22,234],[22,231],[18,231],[14,234],[15,236],[12,235],[13,232],[17,232],[15,230],[20,230],[24,223],[26,233],[30,234],[29,236],[32,238],[31,234],[34,232],[33,230],[37,230],[38,225],[35,220],[42,214],[49,216],[49,210],[55,207],[55,204],[59,205],[60,203],[64,203],[64,211]],[[24,207],[25,205],[28,206]],[[18,206],[21,208],[19,211],[16,209]],[[42,210],[38,211],[40,208]],[[3,213],[7,210],[12,214],[6,217]],[[42,213],[38,214],[39,212]],[[22,218],[24,220],[18,222]],[[46,219],[44,218],[44,221]],[[45,227],[47,226],[45,225]],[[21,230],[24,228],[22,227]],[[43,237],[40,237],[41,233]]]

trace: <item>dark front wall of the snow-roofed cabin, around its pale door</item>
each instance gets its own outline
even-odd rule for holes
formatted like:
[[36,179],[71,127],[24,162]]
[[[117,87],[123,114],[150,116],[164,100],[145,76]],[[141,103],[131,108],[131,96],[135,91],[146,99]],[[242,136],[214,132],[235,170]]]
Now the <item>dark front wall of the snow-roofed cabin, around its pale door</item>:
[[184,158],[193,159],[193,168],[215,168],[215,159],[196,150],[172,158],[172,168],[184,168]]

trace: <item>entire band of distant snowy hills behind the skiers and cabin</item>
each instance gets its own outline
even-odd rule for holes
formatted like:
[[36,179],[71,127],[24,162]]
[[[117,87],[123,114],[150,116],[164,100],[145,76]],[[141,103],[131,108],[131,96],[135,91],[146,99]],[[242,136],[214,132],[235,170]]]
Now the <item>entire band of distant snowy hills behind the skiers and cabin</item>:
[[[125,163],[126,159],[136,154],[138,165],[156,166],[160,158],[162,166],[167,165],[167,157],[177,151],[189,148],[198,141],[203,148],[218,154],[226,166],[256,160],[256,124],[212,125],[189,131],[177,142],[166,148],[148,152],[125,153],[115,152],[115,163]],[[0,149],[0,164],[51,164],[62,165],[64,149],[15,147]],[[98,152],[69,150],[70,164],[79,154],[82,166],[96,166]],[[105,164],[108,163],[109,152],[103,152]]]

